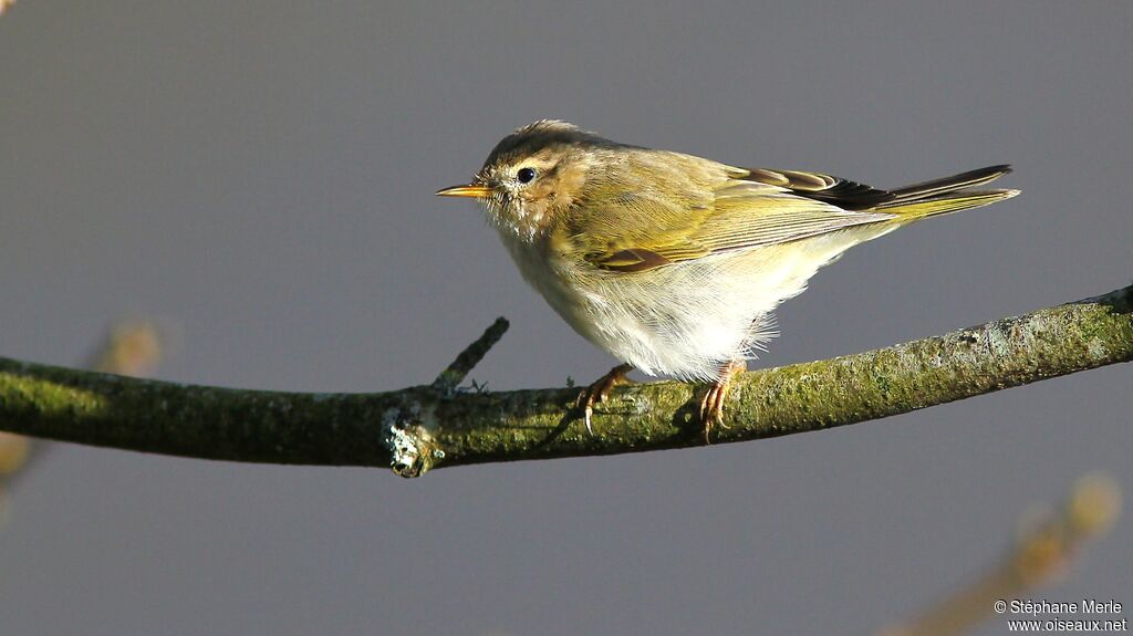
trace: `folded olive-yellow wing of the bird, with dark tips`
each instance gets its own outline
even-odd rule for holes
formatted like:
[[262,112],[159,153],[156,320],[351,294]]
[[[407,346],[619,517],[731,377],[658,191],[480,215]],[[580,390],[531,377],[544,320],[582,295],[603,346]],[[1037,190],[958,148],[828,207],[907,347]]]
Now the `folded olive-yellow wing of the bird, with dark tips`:
[[583,258],[606,270],[641,272],[894,218],[864,210],[889,192],[825,174],[736,169],[702,190],[680,200],[623,192],[589,201],[595,212],[587,217]]

